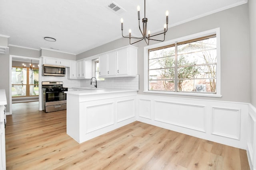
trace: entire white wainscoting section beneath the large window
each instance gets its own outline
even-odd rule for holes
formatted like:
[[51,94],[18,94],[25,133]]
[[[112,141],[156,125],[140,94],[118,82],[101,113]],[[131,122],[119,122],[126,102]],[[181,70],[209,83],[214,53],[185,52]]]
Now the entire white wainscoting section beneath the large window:
[[247,103],[152,95],[137,95],[137,100],[138,121],[240,149],[247,148]]

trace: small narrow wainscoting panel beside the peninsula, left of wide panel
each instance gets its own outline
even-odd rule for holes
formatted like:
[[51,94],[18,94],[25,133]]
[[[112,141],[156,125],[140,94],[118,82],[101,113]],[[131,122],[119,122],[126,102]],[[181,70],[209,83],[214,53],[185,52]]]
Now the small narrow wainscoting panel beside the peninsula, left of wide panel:
[[151,119],[151,100],[139,99],[139,117]]

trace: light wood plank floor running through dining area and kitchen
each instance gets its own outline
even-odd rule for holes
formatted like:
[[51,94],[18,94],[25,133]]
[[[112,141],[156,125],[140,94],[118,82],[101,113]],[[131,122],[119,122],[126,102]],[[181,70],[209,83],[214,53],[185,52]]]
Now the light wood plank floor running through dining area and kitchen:
[[78,144],[66,111],[13,104],[7,116],[7,170],[249,170],[246,150],[134,122]]

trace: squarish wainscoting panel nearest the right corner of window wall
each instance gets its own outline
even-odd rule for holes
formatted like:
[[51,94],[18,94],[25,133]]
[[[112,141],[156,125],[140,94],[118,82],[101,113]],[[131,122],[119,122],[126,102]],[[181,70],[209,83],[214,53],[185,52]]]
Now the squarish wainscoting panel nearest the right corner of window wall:
[[212,134],[240,140],[241,109],[212,107]]

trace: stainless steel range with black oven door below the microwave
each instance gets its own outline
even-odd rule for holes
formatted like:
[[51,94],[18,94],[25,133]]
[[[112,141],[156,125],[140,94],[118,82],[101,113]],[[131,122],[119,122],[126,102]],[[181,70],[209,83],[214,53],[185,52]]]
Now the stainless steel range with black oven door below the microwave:
[[42,109],[45,112],[66,109],[66,92],[68,88],[63,87],[63,82],[42,82]]

